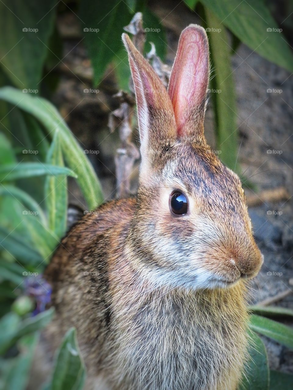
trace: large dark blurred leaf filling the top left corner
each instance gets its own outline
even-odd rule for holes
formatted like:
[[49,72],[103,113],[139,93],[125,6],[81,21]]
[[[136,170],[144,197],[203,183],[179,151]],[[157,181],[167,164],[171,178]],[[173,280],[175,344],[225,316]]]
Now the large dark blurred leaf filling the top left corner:
[[0,66],[20,89],[40,89],[38,82],[54,27],[56,3],[56,0],[0,2]]

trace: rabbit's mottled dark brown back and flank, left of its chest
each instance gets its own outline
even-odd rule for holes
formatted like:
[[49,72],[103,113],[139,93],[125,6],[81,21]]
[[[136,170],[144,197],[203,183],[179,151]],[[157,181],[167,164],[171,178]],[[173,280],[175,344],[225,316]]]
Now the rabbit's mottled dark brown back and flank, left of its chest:
[[45,333],[50,355],[75,326],[89,371],[103,360],[111,321],[108,270],[123,247],[135,204],[135,198],[103,204],[77,222],[57,248],[45,272],[56,310]]

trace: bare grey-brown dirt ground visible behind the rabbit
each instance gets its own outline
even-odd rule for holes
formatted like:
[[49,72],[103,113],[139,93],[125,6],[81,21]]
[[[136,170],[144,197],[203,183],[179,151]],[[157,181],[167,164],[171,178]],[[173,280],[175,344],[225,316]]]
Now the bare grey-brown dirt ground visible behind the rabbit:
[[[179,6],[176,13],[169,13],[171,8],[172,2],[166,2],[164,8],[154,6],[157,15],[161,19],[164,18],[163,24],[167,29],[169,64],[173,62],[180,31],[189,23],[200,23],[197,16],[186,7]],[[53,101],[80,140],[82,148],[99,151],[89,158],[102,182],[105,198],[109,200],[115,195],[114,153],[119,140],[117,133],[110,133],[107,121],[109,113],[117,107],[112,98],[117,87],[113,73],[110,73],[100,85],[98,94],[84,93],[85,88],[91,87],[86,81],[91,75],[91,69],[82,44],[74,47],[77,42],[78,40],[74,39],[64,39],[64,63],[70,69],[78,69],[79,77],[69,72],[62,73]],[[250,182],[255,184],[256,194],[265,189],[284,186],[291,197],[293,76],[243,44],[232,57],[232,69],[236,80],[240,145],[238,160],[241,170],[250,178]],[[209,104],[205,134],[209,143],[216,147],[213,124],[213,110]],[[134,138],[137,138],[137,133]],[[134,174],[132,179],[135,191],[137,175]],[[249,194],[250,190],[245,191]],[[86,204],[74,183],[70,192],[70,201],[86,209]],[[249,208],[255,239],[264,254],[261,272],[251,283],[248,298],[251,303],[261,302],[289,288],[293,290],[293,286],[289,285],[289,279],[293,278],[292,199],[293,196],[287,201],[265,202],[261,206]],[[276,304],[292,308],[293,294]],[[271,368],[293,372],[293,352],[271,340],[263,339],[268,349]]]

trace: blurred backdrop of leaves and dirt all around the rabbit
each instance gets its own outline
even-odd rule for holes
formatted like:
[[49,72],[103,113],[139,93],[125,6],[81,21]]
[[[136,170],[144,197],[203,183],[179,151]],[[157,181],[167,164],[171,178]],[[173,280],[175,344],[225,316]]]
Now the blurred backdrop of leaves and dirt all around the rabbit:
[[[210,44],[205,135],[241,177],[264,254],[248,304],[271,385],[247,388],[292,388],[276,374],[293,373],[293,3],[285,0],[0,1],[0,388],[27,388],[39,331],[54,315],[42,273],[65,232],[102,202],[136,192],[139,141],[121,34],[167,86],[190,23]],[[74,330],[65,340],[78,348]],[[79,377],[56,388],[82,388],[82,359],[69,358]]]

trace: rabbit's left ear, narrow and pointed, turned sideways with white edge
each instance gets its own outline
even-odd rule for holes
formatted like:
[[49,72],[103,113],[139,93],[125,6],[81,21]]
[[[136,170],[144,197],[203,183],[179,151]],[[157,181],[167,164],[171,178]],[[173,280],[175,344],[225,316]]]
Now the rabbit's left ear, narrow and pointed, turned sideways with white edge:
[[171,99],[163,83],[127,34],[122,40],[128,52],[138,110],[142,159],[176,137]]

